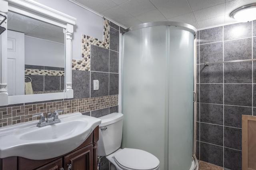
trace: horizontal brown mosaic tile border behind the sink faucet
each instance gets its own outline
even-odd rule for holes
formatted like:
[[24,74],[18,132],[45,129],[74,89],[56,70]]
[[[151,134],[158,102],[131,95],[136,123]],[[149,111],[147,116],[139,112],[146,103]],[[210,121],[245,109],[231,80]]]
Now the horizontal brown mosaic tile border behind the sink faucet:
[[48,111],[63,109],[64,112],[60,115],[66,115],[74,112],[85,113],[116,105],[118,105],[118,95],[4,107],[0,108],[0,127],[38,120],[39,117],[32,117],[35,113],[43,112],[46,115]]

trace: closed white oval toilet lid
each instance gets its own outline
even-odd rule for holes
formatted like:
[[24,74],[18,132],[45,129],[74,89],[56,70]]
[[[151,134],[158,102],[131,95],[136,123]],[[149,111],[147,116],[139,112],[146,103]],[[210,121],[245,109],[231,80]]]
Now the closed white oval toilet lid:
[[140,149],[124,148],[114,154],[116,163],[129,170],[153,170],[159,160],[153,154]]

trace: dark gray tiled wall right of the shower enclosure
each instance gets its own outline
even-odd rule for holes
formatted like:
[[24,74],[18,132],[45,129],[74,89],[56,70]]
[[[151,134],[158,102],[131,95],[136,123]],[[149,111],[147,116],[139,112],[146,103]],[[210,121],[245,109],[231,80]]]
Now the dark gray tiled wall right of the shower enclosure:
[[256,21],[198,32],[197,157],[242,169],[242,118],[256,115]]

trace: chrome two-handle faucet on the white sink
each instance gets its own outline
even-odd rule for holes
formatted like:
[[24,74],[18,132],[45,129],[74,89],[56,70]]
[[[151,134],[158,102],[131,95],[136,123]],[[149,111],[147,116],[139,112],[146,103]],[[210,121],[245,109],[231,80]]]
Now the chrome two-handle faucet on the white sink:
[[59,112],[62,112],[63,110],[57,110],[52,113],[46,113],[46,119],[44,117],[44,113],[36,113],[33,115],[33,117],[38,117],[40,116],[40,120],[38,124],[36,125],[37,127],[45,127],[47,125],[52,125],[55,123],[60,123],[59,119]]

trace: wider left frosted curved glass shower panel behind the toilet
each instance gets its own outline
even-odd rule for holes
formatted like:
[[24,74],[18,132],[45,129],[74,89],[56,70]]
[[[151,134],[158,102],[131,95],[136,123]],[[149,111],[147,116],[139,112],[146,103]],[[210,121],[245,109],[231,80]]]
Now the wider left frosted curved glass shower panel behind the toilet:
[[154,154],[161,169],[167,157],[166,28],[134,30],[123,40],[123,146]]

